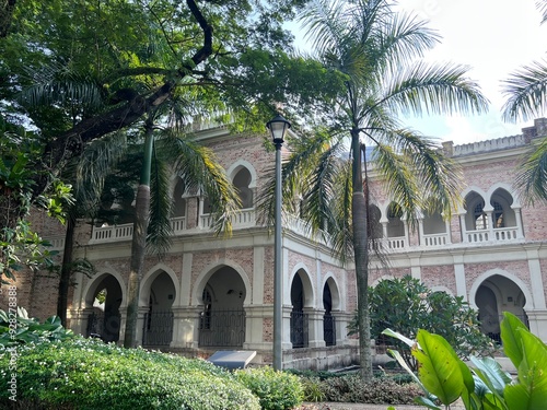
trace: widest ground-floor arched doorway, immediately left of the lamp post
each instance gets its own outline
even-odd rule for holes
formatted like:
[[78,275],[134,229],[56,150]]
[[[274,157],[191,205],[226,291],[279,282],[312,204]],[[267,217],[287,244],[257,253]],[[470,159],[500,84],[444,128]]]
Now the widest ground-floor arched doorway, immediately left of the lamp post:
[[245,283],[231,267],[217,270],[201,293],[200,348],[242,348],[245,342]]

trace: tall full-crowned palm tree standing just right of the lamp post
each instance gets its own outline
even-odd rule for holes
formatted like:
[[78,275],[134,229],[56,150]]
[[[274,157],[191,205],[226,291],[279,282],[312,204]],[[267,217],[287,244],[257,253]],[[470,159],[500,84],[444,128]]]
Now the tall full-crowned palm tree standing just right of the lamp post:
[[[337,255],[352,256],[358,289],[361,375],[372,377],[368,312],[368,181],[372,149],[384,188],[407,220],[417,210],[438,210],[450,218],[457,201],[456,171],[438,144],[403,128],[399,114],[479,113],[487,102],[467,79],[467,68],[419,61],[438,36],[423,22],[393,10],[389,0],[315,0],[301,19],[317,58],[346,75],[345,89],[323,113],[324,127],[293,141],[283,165],[283,195],[301,198],[300,215],[312,231],[328,231]],[[347,163],[339,153],[347,149]]]

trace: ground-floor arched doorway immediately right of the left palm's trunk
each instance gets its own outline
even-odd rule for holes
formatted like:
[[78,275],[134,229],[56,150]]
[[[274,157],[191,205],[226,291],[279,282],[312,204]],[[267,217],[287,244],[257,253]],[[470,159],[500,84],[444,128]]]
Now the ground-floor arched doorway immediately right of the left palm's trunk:
[[166,272],[155,277],[150,285],[149,309],[144,315],[142,345],[168,347],[173,339],[173,311],[175,285]]

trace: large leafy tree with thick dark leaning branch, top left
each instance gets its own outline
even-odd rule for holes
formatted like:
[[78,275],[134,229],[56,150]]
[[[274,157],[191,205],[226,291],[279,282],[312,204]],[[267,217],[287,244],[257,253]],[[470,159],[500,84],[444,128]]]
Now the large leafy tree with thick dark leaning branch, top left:
[[[252,72],[243,67],[249,66],[245,55],[255,49],[290,47],[291,36],[281,24],[303,2],[21,2],[13,20],[16,35],[0,43],[5,57],[0,61],[0,75],[7,80],[2,91],[14,94],[33,86],[39,80],[36,74],[49,74],[40,67],[56,67],[60,73],[80,73],[88,84],[97,85],[93,97],[109,103],[96,113],[65,110],[62,114],[74,119],[73,124],[48,130],[44,161],[38,167],[57,173],[90,141],[146,118],[181,90],[196,87],[196,93],[202,94],[212,90],[219,95],[243,90],[242,77],[252,79]],[[66,99],[82,103],[81,90],[70,89]],[[268,103],[249,96],[237,99],[248,110],[257,101]],[[216,109],[226,109],[234,99],[226,93],[217,101],[220,104]],[[24,99],[20,103],[26,105]],[[40,119],[59,110],[55,106],[43,108]],[[42,173],[35,179],[34,195],[38,196],[49,179]]]

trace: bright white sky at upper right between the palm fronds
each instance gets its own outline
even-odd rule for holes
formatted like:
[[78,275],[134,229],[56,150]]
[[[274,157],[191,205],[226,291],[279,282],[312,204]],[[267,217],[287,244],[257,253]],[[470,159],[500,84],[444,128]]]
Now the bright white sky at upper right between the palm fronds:
[[520,67],[542,60],[547,51],[547,23],[539,24],[535,0],[399,0],[399,8],[428,20],[428,26],[441,35],[441,43],[424,58],[469,66],[469,77],[490,101],[486,115],[409,118],[406,125],[457,145],[519,134],[533,125],[532,119],[502,121],[507,97],[501,81]]

